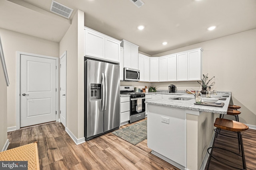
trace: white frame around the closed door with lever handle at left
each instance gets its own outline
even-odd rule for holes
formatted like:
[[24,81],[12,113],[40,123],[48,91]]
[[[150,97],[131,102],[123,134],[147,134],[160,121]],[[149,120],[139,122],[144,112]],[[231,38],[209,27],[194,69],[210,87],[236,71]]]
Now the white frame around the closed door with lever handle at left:
[[[29,55],[33,57],[42,57],[46,59],[56,60],[56,88],[59,89],[59,58],[46,55],[16,52],[16,130],[20,129],[20,57],[21,55]],[[56,90],[56,111],[59,113],[59,90]],[[59,121],[59,114],[56,114],[56,121]]]

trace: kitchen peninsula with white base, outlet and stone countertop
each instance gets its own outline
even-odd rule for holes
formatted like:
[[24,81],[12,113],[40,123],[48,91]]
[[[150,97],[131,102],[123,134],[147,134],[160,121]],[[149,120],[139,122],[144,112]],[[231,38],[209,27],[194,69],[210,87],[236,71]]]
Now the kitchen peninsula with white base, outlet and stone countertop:
[[231,92],[225,93],[229,97],[219,100],[224,103],[223,107],[196,105],[194,96],[186,93],[146,101],[148,147],[152,154],[182,170],[204,170],[209,156],[207,148],[214,134],[214,121],[219,114],[226,114],[230,102]]

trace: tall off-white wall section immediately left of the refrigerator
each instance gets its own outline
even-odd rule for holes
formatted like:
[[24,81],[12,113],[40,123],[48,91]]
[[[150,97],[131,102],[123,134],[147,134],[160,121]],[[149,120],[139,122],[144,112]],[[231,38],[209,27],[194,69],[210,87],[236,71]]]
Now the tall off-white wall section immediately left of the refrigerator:
[[84,12],[78,10],[60,41],[60,54],[67,51],[66,120],[68,130],[84,137]]

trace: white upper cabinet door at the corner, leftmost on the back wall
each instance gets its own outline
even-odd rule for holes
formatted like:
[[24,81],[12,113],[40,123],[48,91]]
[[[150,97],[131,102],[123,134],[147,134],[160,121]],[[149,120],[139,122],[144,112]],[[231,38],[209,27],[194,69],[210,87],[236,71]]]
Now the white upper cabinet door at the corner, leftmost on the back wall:
[[159,81],[159,57],[150,57],[150,82]]

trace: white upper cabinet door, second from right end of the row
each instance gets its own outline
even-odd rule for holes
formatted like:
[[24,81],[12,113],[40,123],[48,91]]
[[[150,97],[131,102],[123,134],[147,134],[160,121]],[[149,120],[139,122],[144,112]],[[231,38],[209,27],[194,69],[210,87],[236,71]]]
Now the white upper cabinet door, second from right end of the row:
[[177,54],[177,80],[188,80],[188,53]]

